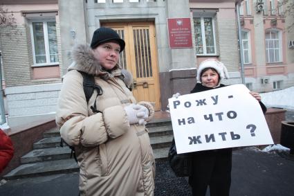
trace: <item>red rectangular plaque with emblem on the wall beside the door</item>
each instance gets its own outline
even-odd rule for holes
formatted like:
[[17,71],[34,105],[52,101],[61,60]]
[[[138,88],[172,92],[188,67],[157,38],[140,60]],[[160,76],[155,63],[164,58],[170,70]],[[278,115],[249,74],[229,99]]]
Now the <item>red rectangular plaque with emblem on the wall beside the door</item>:
[[192,48],[190,18],[167,19],[167,25],[171,48]]

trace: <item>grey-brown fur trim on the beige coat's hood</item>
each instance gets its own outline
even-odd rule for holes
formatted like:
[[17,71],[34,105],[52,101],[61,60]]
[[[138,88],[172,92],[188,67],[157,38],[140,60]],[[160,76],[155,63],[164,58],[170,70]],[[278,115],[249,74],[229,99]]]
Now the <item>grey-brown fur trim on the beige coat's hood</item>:
[[68,71],[77,70],[88,73],[89,75],[95,75],[104,80],[112,78],[114,76],[123,76],[123,81],[128,88],[132,88],[133,76],[129,71],[121,69],[118,64],[109,72],[103,71],[102,66],[98,60],[95,59],[92,49],[84,44],[79,44],[73,48],[71,52],[71,58],[73,63],[68,66]]

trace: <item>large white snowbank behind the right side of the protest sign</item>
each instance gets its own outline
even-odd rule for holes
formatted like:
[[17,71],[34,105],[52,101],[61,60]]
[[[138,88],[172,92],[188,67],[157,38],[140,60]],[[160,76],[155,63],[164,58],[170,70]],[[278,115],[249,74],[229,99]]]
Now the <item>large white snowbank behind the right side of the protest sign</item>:
[[262,103],[266,107],[294,109],[294,87],[269,93],[260,93],[260,96]]

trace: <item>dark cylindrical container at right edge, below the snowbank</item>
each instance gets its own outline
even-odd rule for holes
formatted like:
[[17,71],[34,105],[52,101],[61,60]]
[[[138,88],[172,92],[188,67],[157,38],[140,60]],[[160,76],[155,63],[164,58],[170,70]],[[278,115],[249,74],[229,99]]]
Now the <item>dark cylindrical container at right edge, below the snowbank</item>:
[[281,144],[294,154],[294,121],[282,121]]

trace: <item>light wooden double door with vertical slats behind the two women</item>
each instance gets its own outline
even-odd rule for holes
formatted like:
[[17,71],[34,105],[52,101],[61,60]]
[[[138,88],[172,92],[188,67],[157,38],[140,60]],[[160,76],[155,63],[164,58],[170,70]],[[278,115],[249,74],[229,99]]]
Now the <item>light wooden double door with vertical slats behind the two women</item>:
[[155,28],[151,22],[104,23],[125,40],[120,53],[120,66],[131,71],[134,77],[136,100],[146,100],[160,109],[160,91],[156,56]]

